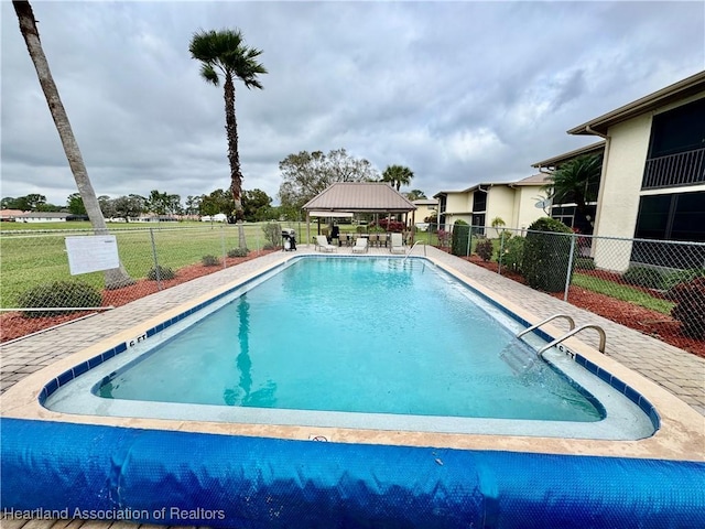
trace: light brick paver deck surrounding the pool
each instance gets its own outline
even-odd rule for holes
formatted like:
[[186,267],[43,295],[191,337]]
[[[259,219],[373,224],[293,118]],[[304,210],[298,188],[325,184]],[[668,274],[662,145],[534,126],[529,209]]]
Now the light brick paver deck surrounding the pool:
[[[623,366],[641,374],[686,402],[701,415],[705,415],[705,359],[668,345],[655,338],[630,330],[601,316],[578,309],[562,300],[532,290],[497,273],[487,271],[463,259],[433,247],[416,247],[414,255],[426,253],[437,261],[454,268],[486,289],[511,300],[516,305],[530,311],[536,319],[563,313],[573,316],[578,325],[597,324],[607,334],[606,353]],[[300,246],[296,255],[318,253],[313,247]],[[351,253],[340,248],[338,255]],[[319,253],[318,253],[319,255]],[[386,248],[370,248],[370,256],[389,256]],[[85,317],[69,324],[47,330],[0,346],[0,392],[4,393],[19,380],[77,350],[96,344],[113,334],[162,312],[203,295],[212,290],[232,283],[259,269],[281,260],[283,252],[272,252],[236,267],[192,280],[187,283],[151,294],[111,311]],[[562,323],[556,322],[557,327]],[[567,327],[565,327],[567,330]],[[598,335],[581,334],[581,341],[597,347]],[[1,398],[1,397],[0,397]],[[705,451],[705,447],[704,447]],[[107,529],[137,526],[124,522],[99,522],[86,520],[2,520],[2,528],[39,529]],[[154,526],[143,526],[154,527]]]

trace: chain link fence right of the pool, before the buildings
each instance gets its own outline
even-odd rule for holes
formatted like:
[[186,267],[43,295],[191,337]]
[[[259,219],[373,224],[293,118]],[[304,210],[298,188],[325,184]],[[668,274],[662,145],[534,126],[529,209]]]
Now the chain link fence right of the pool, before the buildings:
[[416,239],[705,356],[705,242],[462,224]]

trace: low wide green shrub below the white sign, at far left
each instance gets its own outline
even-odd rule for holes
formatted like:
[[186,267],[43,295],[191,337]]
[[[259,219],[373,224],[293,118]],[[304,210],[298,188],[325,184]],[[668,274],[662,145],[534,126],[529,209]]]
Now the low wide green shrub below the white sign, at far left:
[[[37,284],[18,296],[21,309],[100,306],[102,294],[95,287],[79,281],[53,281]],[[28,311],[24,317],[57,316],[67,311]]]

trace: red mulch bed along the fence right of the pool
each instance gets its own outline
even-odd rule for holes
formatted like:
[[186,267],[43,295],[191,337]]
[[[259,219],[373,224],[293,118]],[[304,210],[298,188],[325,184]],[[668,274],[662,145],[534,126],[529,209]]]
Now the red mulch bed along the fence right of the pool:
[[[497,262],[486,262],[477,256],[470,256],[469,258],[464,259],[466,261],[470,261],[473,264],[482,267],[486,270],[497,272]],[[581,270],[581,273],[589,272]],[[519,283],[527,284],[524,278],[517,273],[508,273],[502,270],[502,276]],[[601,279],[614,280],[615,282],[627,284],[621,280],[619,274],[614,276],[614,278],[606,277],[601,271],[598,274]],[[633,285],[630,287],[633,288]],[[648,289],[643,290],[648,291],[651,295],[655,295],[653,291],[649,291]],[[560,300],[563,299],[563,292],[555,292],[550,295]],[[705,358],[705,341],[684,336],[681,332],[681,324],[679,321],[666,314],[573,285],[568,289],[568,301],[572,305],[579,306],[581,309],[585,309],[594,314],[598,314],[607,320],[619,323],[625,327],[633,328],[640,333],[653,336],[661,342],[665,342],[666,344],[671,344]]]

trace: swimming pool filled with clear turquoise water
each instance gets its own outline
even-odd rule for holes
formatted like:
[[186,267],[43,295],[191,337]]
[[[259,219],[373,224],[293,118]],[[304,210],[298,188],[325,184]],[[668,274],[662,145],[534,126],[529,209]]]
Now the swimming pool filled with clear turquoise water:
[[[648,403],[423,259],[308,257],[53,391],[68,413],[642,439]],[[148,332],[149,334],[149,332]],[[527,359],[517,369],[507,357]],[[609,410],[609,413],[607,413]]]

